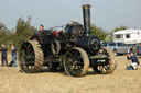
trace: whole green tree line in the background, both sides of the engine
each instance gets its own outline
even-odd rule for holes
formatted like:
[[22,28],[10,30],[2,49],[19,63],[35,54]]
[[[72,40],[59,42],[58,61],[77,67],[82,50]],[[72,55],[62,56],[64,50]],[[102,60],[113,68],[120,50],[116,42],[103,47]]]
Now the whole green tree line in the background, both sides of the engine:
[[[0,23],[0,45],[6,44],[9,47],[11,44],[14,44],[17,47],[20,47],[22,42],[30,39],[36,32],[36,27],[32,26],[31,20],[31,18],[28,18],[28,20],[19,18],[14,31],[8,30],[3,23]],[[127,26],[120,26],[112,32],[108,32],[91,24],[91,35],[98,36],[101,42],[112,42],[112,33],[126,28]]]

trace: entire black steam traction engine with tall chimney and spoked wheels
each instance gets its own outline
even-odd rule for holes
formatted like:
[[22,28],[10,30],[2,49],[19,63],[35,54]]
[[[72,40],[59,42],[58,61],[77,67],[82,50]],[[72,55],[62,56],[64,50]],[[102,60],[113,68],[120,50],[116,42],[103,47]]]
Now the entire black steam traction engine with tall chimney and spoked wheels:
[[46,30],[21,45],[19,66],[26,73],[40,72],[42,67],[51,71],[65,70],[68,75],[82,77],[88,68],[97,73],[115,70],[115,55],[100,47],[100,40],[90,36],[90,5],[83,5],[84,26],[78,22],[67,24],[57,33]]

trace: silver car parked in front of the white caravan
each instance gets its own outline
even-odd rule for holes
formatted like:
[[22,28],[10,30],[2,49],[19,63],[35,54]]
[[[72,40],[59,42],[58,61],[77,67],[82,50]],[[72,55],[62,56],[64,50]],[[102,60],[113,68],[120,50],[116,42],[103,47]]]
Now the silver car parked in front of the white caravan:
[[132,51],[132,48],[123,43],[105,43],[101,44],[101,46],[110,48],[115,53],[115,55],[123,55]]

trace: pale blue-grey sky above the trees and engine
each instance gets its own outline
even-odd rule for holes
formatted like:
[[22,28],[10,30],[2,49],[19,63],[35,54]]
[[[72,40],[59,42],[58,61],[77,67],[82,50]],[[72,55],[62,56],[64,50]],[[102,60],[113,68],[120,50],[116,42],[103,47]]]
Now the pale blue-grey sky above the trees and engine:
[[83,23],[82,4],[91,5],[91,23],[106,31],[128,26],[141,28],[141,0],[0,0],[0,22],[14,30],[19,18],[32,25],[62,26],[76,18]]

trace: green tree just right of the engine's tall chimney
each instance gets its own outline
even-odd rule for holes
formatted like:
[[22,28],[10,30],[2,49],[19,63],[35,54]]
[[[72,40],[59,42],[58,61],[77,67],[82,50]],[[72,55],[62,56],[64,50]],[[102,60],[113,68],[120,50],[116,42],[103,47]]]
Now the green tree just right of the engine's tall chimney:
[[100,40],[105,42],[106,38],[106,31],[104,31],[100,27],[97,27],[96,25],[91,25],[91,35],[99,37]]

